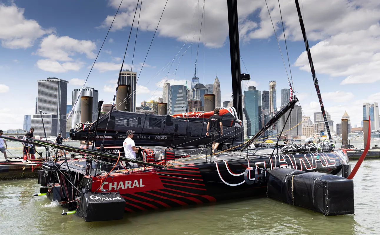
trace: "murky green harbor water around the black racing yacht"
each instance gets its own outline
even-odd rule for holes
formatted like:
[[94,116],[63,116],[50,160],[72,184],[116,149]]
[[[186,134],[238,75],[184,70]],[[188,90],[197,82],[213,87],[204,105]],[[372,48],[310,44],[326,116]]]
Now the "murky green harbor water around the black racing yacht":
[[[355,163],[350,161],[351,168]],[[84,222],[75,215],[62,216],[62,207],[46,196],[32,196],[39,191],[37,179],[0,181],[0,234],[380,234],[378,165],[380,160],[363,162],[354,179],[355,215],[344,216],[250,197]]]

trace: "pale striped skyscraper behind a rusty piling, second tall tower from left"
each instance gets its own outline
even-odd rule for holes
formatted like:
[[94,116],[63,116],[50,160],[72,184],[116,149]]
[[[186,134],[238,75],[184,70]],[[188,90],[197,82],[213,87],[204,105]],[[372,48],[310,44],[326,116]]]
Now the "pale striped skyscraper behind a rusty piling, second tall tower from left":
[[[72,92],[72,105],[75,105],[75,101],[79,96],[79,92],[81,92],[81,89],[74,89]],[[91,87],[84,87],[81,93],[81,96],[78,99],[78,102],[76,103],[73,113],[71,114],[71,127],[75,127],[75,125],[79,122],[81,122],[81,97],[82,96],[89,96],[92,97],[92,120],[95,121],[98,117],[98,97],[99,92]],[[67,124],[68,125],[68,124]]]

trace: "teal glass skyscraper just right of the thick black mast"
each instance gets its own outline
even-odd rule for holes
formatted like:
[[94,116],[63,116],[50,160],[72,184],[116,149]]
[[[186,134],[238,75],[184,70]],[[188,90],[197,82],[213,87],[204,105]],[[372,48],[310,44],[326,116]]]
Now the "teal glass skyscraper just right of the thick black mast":
[[261,92],[250,86],[244,91],[244,114],[247,120],[247,136],[255,135],[261,129]]

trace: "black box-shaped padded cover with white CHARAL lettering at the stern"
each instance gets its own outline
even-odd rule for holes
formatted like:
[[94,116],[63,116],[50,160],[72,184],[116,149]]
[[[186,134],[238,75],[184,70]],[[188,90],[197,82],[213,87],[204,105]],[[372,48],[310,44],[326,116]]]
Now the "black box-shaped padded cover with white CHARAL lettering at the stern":
[[85,193],[79,216],[86,222],[122,219],[124,208],[125,200],[119,193]]

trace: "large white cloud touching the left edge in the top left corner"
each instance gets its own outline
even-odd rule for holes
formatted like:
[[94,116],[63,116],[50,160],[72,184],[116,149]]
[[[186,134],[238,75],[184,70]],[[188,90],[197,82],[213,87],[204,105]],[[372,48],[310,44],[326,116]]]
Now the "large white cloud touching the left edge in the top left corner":
[[9,6],[0,3],[0,40],[3,47],[25,49],[52,31],[43,29],[36,20],[25,19],[24,8],[18,8],[13,1]]

